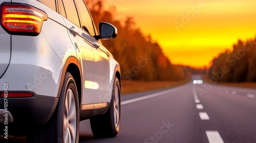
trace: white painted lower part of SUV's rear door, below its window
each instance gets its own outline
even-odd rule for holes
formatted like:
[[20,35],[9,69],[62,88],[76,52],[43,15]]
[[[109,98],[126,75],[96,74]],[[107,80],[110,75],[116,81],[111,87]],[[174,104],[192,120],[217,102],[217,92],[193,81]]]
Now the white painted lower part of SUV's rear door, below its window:
[[69,30],[69,36],[76,47],[77,59],[82,66],[82,92],[83,98],[81,104],[92,104],[94,96],[94,52],[90,35],[81,30],[74,23],[68,19],[63,18],[66,22],[67,29],[74,27],[78,31],[78,35],[73,35]]

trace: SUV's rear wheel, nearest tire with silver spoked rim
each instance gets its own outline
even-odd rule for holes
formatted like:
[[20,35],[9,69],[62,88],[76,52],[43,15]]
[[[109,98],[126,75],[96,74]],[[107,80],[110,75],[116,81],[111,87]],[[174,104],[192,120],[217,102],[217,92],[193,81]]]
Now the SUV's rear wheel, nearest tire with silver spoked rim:
[[[47,104],[47,103],[46,103]],[[79,102],[75,80],[66,73],[57,107],[48,123],[27,136],[27,142],[78,143]]]

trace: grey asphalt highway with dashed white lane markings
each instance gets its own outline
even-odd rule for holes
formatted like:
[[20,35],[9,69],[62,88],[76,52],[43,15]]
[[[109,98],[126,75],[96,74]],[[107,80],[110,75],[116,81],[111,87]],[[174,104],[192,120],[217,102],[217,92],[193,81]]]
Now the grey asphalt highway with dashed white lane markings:
[[172,89],[122,96],[119,134],[94,138],[89,121],[82,121],[79,142],[256,142],[255,89],[194,84],[193,80]]

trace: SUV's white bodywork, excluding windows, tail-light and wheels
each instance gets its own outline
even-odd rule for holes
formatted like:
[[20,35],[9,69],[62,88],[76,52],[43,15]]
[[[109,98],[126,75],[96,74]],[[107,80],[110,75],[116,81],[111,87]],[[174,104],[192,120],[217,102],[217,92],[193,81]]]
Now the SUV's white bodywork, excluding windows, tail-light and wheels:
[[[76,83],[81,86],[81,91],[78,91],[80,114],[83,114],[81,119],[105,113],[111,102],[116,73],[120,74],[120,66],[111,53],[100,41],[65,16],[36,0],[6,2],[33,6],[48,16],[37,36],[10,35],[0,27],[0,85],[8,83],[8,92],[30,92],[34,95],[32,98],[9,99],[14,124],[25,123],[26,118],[20,120],[19,111],[23,109],[31,113],[28,121],[33,125],[44,125],[49,120],[70,65],[78,68],[73,77],[79,75],[81,78],[78,80],[81,83]],[[72,27],[78,35],[70,32]],[[93,42],[99,42],[100,47],[94,47]],[[0,92],[3,90],[0,89]],[[0,98],[0,101],[3,100]],[[40,100],[42,103],[36,106]],[[17,103],[19,101],[24,103]],[[51,104],[46,104],[47,101]],[[3,108],[0,106],[0,109]]]

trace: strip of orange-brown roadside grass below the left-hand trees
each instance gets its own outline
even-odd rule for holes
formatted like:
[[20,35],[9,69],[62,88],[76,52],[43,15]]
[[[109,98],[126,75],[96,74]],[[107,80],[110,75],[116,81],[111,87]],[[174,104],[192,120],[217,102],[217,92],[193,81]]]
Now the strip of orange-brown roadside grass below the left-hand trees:
[[175,86],[180,86],[186,84],[190,81],[190,77],[184,81],[127,81],[122,80],[121,86],[121,95],[141,92],[141,91],[150,91],[155,89],[164,89]]

